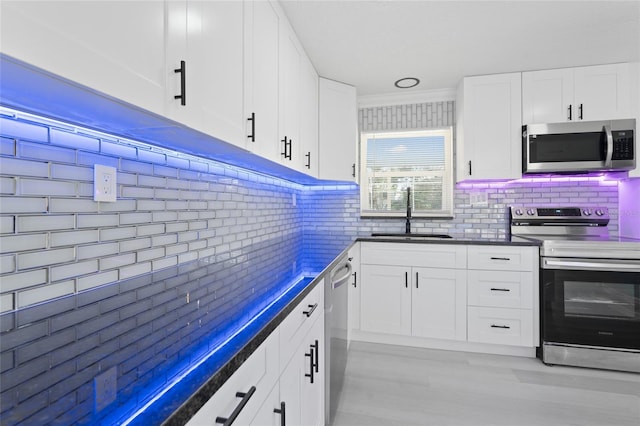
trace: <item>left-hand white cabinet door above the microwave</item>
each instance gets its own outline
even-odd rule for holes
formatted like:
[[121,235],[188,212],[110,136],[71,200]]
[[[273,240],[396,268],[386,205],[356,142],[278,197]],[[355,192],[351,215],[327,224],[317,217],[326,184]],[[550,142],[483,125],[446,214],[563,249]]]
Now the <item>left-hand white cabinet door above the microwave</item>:
[[522,73],[522,123],[558,123],[575,119],[573,70]]

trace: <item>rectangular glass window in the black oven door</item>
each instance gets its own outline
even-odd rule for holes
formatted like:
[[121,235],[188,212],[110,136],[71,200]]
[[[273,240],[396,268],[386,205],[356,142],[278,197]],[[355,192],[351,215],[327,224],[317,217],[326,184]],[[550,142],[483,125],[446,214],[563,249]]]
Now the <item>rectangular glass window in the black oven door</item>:
[[592,281],[564,282],[564,313],[574,317],[633,319],[633,284]]

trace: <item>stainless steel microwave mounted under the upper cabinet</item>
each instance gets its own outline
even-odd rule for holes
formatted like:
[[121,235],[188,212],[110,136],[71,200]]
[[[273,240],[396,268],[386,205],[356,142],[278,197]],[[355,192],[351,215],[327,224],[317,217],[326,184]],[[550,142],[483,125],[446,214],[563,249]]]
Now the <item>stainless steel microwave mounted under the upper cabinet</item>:
[[522,173],[633,170],[636,120],[522,126]]

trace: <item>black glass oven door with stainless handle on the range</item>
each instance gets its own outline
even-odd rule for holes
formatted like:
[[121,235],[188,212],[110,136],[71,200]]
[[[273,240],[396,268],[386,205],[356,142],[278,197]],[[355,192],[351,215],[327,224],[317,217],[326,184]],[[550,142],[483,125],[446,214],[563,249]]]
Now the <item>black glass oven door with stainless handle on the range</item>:
[[640,261],[542,259],[544,342],[640,349]]

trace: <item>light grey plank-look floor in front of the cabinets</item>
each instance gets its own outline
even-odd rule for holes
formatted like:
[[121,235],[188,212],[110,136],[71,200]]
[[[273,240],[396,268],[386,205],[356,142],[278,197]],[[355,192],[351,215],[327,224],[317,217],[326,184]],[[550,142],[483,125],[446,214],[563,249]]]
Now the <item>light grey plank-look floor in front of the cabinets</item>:
[[333,426],[640,426],[640,374],[352,342]]

